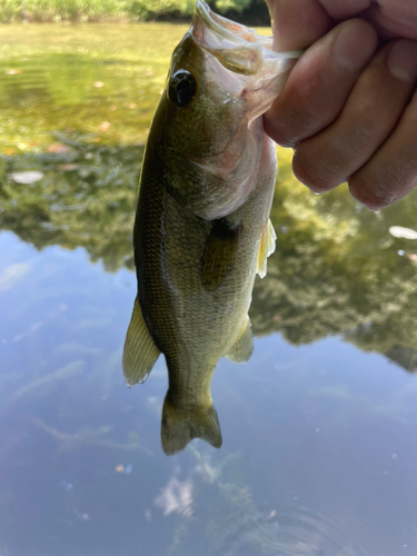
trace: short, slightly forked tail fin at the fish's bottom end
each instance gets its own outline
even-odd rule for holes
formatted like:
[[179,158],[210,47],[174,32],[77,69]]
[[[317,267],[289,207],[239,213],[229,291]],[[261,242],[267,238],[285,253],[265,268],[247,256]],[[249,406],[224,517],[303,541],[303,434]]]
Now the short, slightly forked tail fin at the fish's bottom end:
[[161,441],[167,456],[183,450],[193,438],[201,438],[220,448],[221,430],[215,406],[197,406],[188,409],[175,407],[167,394],[162,409]]

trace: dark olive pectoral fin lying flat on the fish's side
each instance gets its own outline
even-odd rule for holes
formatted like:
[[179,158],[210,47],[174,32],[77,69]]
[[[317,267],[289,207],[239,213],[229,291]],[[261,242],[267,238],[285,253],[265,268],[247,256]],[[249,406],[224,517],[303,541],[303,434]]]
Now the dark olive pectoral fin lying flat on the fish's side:
[[201,286],[216,290],[235,266],[241,226],[230,228],[226,218],[216,220],[201,259]]

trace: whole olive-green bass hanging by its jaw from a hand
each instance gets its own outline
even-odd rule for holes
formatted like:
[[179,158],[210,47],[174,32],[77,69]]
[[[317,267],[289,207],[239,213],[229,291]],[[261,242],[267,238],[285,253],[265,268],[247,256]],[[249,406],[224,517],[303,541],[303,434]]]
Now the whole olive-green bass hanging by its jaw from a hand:
[[276,239],[277,157],[262,115],[299,57],[271,47],[271,38],[198,0],[150,127],[133,228],[138,295],[122,364],[132,386],[165,355],[167,455],[193,438],[221,446],[214,371],[221,357],[244,363],[254,350],[251,292]]

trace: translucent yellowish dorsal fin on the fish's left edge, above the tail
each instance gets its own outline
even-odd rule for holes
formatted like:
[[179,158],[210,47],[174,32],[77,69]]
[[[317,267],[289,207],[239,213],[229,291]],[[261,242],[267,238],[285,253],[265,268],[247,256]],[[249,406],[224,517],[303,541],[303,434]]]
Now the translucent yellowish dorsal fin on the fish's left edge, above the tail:
[[159,354],[136,298],[123,349],[123,374],[127,384],[133,386],[145,383]]

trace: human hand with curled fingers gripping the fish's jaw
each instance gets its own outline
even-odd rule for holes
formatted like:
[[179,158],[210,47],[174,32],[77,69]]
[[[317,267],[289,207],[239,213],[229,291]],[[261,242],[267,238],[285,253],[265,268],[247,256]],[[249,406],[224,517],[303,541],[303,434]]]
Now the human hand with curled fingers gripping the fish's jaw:
[[265,115],[266,132],[295,148],[297,178],[315,192],[347,181],[374,210],[407,195],[417,186],[416,0],[267,3],[275,49],[307,48]]

